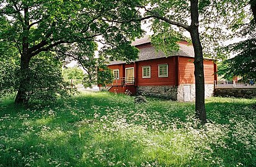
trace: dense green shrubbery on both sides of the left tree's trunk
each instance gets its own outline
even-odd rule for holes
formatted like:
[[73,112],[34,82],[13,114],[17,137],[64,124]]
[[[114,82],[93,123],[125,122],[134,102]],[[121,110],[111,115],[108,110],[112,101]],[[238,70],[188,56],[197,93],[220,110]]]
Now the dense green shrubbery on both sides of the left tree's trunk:
[[[11,53],[11,52],[9,52]],[[0,98],[17,92],[19,89],[20,75],[19,61],[15,56],[6,58],[1,56],[0,61]],[[33,57],[29,71],[29,82],[25,84],[27,103],[39,100],[43,103],[53,102],[58,97],[68,97],[76,90],[71,89],[68,82],[63,81],[61,75],[62,63],[53,58],[52,53],[41,53]]]

